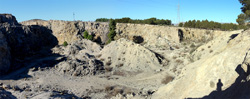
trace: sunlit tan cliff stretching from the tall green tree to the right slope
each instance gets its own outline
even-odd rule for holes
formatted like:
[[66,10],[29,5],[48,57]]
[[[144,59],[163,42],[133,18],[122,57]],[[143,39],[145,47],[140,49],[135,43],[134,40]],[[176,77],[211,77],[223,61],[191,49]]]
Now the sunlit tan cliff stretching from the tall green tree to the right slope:
[[224,33],[219,30],[205,30],[194,28],[183,28],[173,26],[158,26],[147,24],[124,24],[116,25],[117,39],[127,38],[133,40],[136,36],[143,38],[142,42],[147,46],[165,46],[168,43],[179,43],[183,40],[194,42],[206,42],[217,35]]

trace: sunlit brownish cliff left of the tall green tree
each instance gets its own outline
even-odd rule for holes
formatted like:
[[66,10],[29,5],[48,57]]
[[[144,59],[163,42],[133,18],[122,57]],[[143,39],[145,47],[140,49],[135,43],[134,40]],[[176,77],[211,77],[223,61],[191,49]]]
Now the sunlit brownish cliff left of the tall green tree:
[[83,32],[88,31],[94,35],[94,41],[105,43],[109,32],[108,23],[99,22],[81,22],[81,21],[59,21],[59,20],[30,20],[22,22],[23,25],[40,25],[52,30],[54,36],[58,39],[59,44],[64,41],[72,43],[83,39]]

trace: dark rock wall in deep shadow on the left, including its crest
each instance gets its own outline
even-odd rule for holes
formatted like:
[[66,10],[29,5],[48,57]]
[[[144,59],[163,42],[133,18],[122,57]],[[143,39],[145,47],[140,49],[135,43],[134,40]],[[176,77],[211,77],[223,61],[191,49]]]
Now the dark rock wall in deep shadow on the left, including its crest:
[[[6,56],[0,63],[6,64],[1,65],[5,67],[5,72],[18,67],[13,65],[15,60],[22,60],[27,56],[35,55],[41,49],[49,49],[58,44],[57,39],[52,35],[52,31],[46,27],[22,26],[17,23],[16,18],[12,15],[0,14],[0,16],[2,22],[0,23],[0,51],[3,53],[0,57]],[[11,61],[11,64],[7,60]],[[10,65],[12,65],[11,68]]]

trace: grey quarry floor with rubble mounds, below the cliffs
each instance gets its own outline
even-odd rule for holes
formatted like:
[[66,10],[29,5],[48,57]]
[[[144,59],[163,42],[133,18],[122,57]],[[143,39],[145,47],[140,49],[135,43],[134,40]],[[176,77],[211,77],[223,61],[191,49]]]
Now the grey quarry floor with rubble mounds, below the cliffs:
[[27,58],[24,68],[2,76],[0,89],[8,96],[1,98],[150,99],[189,62],[177,56],[189,49],[178,46],[151,50],[126,39],[104,48],[89,40],[57,46],[52,54]]

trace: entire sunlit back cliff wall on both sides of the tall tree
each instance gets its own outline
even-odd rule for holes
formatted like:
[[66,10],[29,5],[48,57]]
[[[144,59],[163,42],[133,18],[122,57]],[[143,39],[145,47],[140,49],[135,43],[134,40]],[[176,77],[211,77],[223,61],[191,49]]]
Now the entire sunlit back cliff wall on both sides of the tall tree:
[[[83,39],[83,32],[87,30],[94,35],[94,41],[106,43],[108,40],[109,24],[107,22],[82,22],[61,20],[29,20],[21,22],[23,25],[42,25],[52,30],[59,44],[64,41],[71,43]],[[167,43],[181,41],[207,42],[225,31],[184,28],[174,26],[160,26],[148,24],[117,23],[115,39],[127,38],[133,40],[135,36],[142,37],[142,42],[149,46],[164,46]]]

